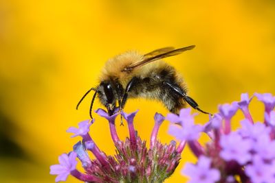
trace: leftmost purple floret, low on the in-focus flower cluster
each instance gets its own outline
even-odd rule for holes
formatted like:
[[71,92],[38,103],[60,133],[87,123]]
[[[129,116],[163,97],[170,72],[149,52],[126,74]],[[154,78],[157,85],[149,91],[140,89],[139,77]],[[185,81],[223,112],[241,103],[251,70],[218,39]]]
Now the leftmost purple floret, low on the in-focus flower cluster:
[[60,164],[54,164],[50,167],[50,174],[57,175],[56,182],[67,180],[67,176],[76,169],[76,153],[62,154],[58,157]]

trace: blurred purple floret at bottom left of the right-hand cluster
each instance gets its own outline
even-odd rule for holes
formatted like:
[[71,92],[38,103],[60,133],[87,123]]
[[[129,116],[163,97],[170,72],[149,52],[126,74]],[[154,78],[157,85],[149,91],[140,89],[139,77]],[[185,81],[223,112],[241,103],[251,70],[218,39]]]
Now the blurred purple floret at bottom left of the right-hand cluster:
[[206,156],[200,156],[197,164],[187,163],[182,173],[190,177],[188,183],[214,183],[221,178],[219,171],[211,168],[211,159]]

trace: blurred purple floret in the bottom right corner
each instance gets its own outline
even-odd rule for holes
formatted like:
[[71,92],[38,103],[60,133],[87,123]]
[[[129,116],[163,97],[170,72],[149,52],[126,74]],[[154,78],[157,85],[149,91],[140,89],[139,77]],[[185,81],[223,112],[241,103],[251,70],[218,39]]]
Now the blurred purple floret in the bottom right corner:
[[245,167],[245,173],[252,183],[274,183],[274,165],[265,163],[259,156],[254,156],[253,164]]

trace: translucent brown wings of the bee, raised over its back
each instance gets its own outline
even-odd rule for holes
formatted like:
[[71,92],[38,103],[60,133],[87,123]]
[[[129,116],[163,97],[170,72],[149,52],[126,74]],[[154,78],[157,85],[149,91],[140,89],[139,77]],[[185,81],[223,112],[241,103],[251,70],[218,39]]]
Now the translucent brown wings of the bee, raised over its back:
[[[147,53],[142,61],[135,62],[129,66],[126,66],[124,69],[122,69],[122,72],[131,72],[133,69],[135,69],[137,67],[143,66],[145,64],[148,64],[150,62],[153,62],[155,60],[159,60],[162,58],[166,58],[166,57],[170,57],[170,56],[177,56],[178,54],[180,54],[184,51],[193,49],[194,47],[195,47],[195,45],[191,45],[191,46],[183,47],[183,48],[179,48],[179,49],[174,49],[173,47],[156,49],[155,51]],[[167,52],[165,52],[165,50]],[[159,54],[155,55],[155,53],[159,53]]]

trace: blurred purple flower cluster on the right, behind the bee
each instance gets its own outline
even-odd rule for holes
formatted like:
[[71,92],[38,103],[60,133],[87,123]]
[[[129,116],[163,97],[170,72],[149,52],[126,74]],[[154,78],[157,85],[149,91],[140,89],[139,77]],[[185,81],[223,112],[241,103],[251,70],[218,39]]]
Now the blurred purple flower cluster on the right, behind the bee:
[[[254,96],[265,105],[263,123],[252,119],[248,108],[252,98],[247,93],[239,102],[219,106],[219,113],[210,116],[206,125],[195,125],[190,109],[182,109],[179,116],[168,114],[172,123],[169,133],[186,141],[198,158],[197,164],[187,163],[182,170],[189,183],[275,182],[275,97],[269,93]],[[237,110],[245,118],[240,121],[241,127],[232,131]],[[211,139],[206,145],[197,141],[202,132]]]

